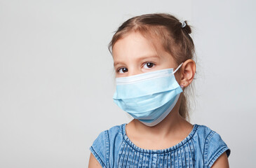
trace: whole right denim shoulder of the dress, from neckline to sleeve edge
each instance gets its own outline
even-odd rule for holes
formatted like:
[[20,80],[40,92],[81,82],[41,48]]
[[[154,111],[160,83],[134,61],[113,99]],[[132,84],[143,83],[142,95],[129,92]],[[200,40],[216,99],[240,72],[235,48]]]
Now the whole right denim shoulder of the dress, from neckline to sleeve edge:
[[200,148],[203,163],[207,167],[211,167],[222,153],[226,152],[227,157],[230,155],[230,149],[222,140],[220,134],[205,125],[196,125],[196,132],[193,139]]

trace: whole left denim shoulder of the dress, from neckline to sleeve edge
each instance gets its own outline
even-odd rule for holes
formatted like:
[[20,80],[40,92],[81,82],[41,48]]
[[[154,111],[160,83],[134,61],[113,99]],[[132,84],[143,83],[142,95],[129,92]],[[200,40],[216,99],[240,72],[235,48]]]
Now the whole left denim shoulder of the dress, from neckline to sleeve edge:
[[125,124],[116,125],[101,132],[93,141],[93,145],[90,146],[90,152],[102,167],[109,167],[109,153],[111,153],[113,146],[122,141],[124,126]]

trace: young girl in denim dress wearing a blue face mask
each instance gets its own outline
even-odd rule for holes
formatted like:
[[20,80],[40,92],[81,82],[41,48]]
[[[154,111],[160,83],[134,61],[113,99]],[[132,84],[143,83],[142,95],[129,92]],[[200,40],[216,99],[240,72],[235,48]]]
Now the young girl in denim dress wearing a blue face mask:
[[229,167],[219,134],[191,125],[184,92],[196,72],[187,22],[156,13],[130,18],[109,43],[114,102],[133,116],[102,132],[89,167]]

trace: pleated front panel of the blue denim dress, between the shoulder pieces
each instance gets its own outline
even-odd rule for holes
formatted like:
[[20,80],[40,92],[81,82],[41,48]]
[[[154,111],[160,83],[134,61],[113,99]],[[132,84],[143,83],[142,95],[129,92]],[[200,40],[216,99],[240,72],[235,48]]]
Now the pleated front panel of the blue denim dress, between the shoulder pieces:
[[139,148],[128,139],[125,125],[122,125],[124,141],[119,151],[118,167],[194,167],[194,144],[191,140],[196,127],[189,136],[179,144],[163,150],[146,150]]

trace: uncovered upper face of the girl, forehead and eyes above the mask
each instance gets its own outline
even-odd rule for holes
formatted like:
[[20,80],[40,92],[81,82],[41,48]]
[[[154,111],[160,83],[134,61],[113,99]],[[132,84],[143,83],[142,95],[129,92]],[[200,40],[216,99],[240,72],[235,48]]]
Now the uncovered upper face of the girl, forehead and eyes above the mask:
[[150,43],[142,34],[133,32],[119,39],[113,46],[116,78],[133,76],[159,69],[177,68],[173,57],[163,47]]

